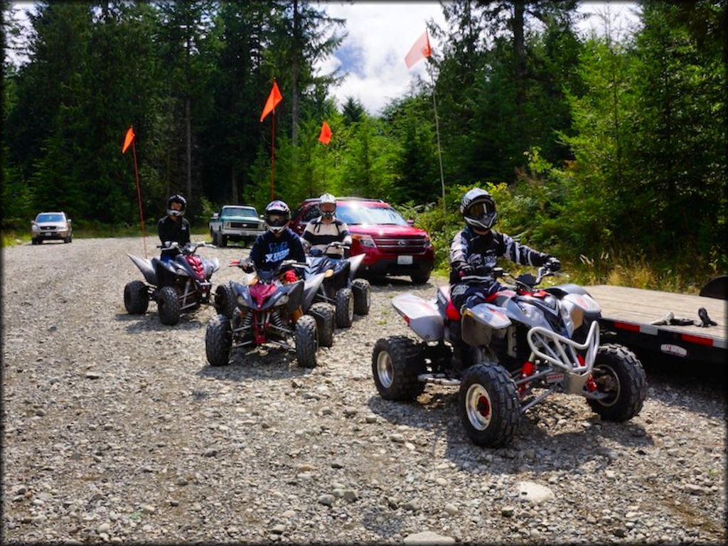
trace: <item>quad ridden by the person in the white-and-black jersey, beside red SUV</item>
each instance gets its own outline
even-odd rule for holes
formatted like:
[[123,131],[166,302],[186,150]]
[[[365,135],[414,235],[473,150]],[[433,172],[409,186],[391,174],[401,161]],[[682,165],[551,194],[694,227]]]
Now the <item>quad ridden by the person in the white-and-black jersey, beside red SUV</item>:
[[363,254],[350,258],[341,258],[330,252],[335,248],[348,250],[349,245],[341,242],[331,242],[320,250],[312,248],[306,256],[306,270],[304,277],[313,277],[319,273],[326,273],[323,285],[318,290],[314,301],[332,304],[336,309],[336,325],[339,328],[349,328],[354,320],[354,314],[369,314],[371,306],[371,285],[366,279],[356,279],[357,269],[364,260]]

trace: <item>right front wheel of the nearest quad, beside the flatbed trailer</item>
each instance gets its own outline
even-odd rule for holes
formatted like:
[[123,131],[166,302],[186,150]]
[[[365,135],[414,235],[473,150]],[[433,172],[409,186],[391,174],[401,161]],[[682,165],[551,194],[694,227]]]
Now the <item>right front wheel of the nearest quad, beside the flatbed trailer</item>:
[[609,393],[604,400],[587,398],[594,413],[605,421],[628,421],[639,414],[647,397],[647,380],[635,354],[617,344],[599,347],[592,376],[597,391]]

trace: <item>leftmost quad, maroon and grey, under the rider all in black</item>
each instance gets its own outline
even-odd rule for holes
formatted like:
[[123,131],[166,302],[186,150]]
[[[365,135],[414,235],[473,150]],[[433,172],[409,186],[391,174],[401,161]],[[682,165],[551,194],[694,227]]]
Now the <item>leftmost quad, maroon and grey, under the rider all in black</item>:
[[124,307],[129,314],[144,314],[149,300],[157,302],[162,324],[175,325],[183,311],[210,304],[210,278],[220,269],[218,258],[201,258],[197,249],[210,247],[205,242],[192,242],[180,246],[178,242],[157,245],[165,250],[176,249],[180,254],[173,260],[139,258],[127,254],[142,272],[146,282],[132,280],[124,286]]

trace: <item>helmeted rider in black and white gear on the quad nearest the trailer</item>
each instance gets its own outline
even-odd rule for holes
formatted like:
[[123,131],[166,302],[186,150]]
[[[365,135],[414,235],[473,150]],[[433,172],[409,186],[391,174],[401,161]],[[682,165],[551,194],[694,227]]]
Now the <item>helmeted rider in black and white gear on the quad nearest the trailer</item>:
[[[497,214],[496,202],[488,191],[480,188],[467,191],[460,203],[460,213],[467,225],[455,235],[450,247],[450,296],[459,311],[481,304],[488,296],[506,288],[492,276],[492,268],[502,256],[521,265],[548,264],[551,271],[561,269],[558,258],[491,229]],[[456,338],[453,363],[458,370],[464,343],[459,335]]]

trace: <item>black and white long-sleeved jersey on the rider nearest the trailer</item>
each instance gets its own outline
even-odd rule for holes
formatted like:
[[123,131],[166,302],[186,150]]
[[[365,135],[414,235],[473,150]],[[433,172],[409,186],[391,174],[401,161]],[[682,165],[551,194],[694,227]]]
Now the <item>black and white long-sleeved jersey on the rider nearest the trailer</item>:
[[550,258],[549,254],[521,245],[505,233],[488,231],[478,235],[466,226],[453,238],[450,247],[450,282],[459,282],[459,269],[468,263],[473,254],[480,254],[483,265],[494,267],[500,257],[508,258],[516,264],[542,266]]

